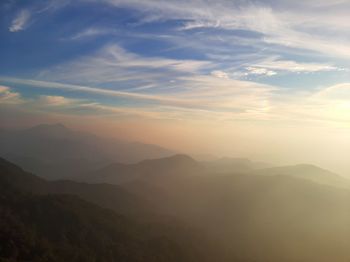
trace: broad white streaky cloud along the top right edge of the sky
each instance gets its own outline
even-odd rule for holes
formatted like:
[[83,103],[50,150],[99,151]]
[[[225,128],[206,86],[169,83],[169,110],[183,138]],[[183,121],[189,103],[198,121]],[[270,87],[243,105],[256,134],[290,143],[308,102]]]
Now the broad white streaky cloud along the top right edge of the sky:
[[274,48],[312,50],[327,56],[348,57],[349,2],[329,1],[165,1],[105,0],[115,7],[137,10],[140,20],[179,20],[180,30],[247,30],[262,35]]

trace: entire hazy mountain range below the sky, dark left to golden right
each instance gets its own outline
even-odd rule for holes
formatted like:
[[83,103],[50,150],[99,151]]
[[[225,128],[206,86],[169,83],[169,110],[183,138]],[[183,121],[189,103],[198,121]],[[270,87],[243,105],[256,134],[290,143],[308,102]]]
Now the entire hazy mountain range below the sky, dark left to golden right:
[[[62,125],[0,136],[4,155],[29,161],[0,158],[0,261],[350,258],[350,182],[320,167],[196,161],[149,145],[164,155],[123,162],[118,142]],[[31,159],[62,166],[39,177]]]

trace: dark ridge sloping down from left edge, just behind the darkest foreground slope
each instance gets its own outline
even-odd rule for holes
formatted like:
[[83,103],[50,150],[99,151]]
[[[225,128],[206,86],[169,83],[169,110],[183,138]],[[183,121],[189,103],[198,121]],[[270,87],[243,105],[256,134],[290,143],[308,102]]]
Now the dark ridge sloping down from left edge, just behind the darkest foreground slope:
[[2,180],[21,192],[32,194],[74,194],[80,198],[113,209],[119,213],[146,215],[152,212],[144,200],[129,193],[125,188],[108,184],[87,184],[69,180],[46,181],[20,167],[0,159]]

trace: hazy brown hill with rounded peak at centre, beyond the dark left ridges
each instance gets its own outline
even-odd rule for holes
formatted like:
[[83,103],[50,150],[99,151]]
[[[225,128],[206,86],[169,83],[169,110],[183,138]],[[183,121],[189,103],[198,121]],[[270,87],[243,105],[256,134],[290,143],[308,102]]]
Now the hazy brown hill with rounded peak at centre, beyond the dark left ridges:
[[205,172],[203,166],[187,155],[173,155],[160,159],[143,160],[136,164],[114,163],[82,176],[89,182],[123,184],[136,180],[169,179]]

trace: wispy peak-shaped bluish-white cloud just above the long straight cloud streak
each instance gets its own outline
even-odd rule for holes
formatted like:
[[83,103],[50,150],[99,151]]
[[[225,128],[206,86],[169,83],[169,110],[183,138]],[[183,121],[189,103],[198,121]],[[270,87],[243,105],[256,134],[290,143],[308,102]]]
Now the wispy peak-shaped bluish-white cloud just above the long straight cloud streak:
[[111,44],[95,54],[49,68],[39,77],[76,84],[113,83],[121,89],[139,89],[154,83],[167,88],[171,86],[169,81],[179,75],[200,73],[210,67],[209,61],[145,57]]

